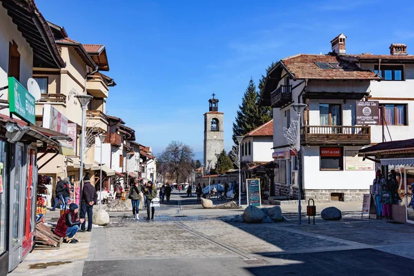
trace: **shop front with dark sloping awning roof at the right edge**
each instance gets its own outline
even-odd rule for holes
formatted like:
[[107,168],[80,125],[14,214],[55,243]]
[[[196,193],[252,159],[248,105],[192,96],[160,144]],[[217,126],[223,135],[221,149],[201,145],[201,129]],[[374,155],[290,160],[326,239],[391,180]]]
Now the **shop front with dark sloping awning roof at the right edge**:
[[[393,196],[391,217],[395,221],[414,224],[414,207],[408,206],[413,198],[414,139],[380,143],[359,150],[359,156],[372,159],[382,171]],[[373,204],[376,204],[375,200]]]

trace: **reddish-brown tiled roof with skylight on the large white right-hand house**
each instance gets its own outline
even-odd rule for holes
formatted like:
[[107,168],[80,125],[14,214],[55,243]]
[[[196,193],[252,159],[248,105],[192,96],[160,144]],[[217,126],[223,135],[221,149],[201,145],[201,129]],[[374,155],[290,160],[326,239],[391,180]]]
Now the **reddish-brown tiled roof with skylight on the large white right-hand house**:
[[[370,70],[336,55],[295,55],[281,62],[296,79],[381,79]],[[340,68],[322,69],[315,62],[339,63]]]

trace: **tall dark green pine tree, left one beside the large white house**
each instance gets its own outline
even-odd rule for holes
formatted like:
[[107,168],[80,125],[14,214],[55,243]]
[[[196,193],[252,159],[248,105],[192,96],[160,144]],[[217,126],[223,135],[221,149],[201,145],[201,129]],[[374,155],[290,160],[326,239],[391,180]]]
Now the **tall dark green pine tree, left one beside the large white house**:
[[242,98],[242,105],[239,106],[235,122],[233,123],[233,141],[235,144],[237,144],[236,136],[246,135],[246,133],[262,126],[262,124],[270,121],[273,117],[272,108],[259,107],[259,96],[255,82],[250,78]]

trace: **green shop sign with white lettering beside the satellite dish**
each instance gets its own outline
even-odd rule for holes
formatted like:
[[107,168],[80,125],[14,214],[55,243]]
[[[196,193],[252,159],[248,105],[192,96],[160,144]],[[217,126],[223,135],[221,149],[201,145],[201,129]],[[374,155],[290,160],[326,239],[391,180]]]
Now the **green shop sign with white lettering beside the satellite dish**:
[[34,97],[14,77],[8,78],[8,86],[10,113],[28,123],[36,124]]

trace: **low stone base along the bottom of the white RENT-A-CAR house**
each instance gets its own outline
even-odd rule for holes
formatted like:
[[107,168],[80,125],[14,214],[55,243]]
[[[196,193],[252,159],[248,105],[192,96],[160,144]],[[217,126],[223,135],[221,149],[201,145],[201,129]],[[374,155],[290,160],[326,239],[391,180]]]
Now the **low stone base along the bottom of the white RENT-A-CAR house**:
[[[342,197],[341,201],[362,201],[364,194],[368,194],[369,190],[305,190],[305,198],[315,199],[317,202],[331,202],[335,201],[332,197],[337,194]],[[337,197],[336,197],[337,199]]]

